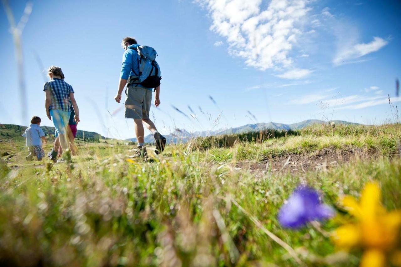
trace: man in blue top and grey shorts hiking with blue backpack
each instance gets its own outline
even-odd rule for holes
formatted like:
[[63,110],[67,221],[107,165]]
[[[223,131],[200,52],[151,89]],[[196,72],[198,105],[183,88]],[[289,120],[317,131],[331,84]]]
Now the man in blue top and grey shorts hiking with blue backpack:
[[140,46],[135,38],[126,37],[121,43],[125,52],[121,67],[118,92],[114,99],[121,101],[125,85],[125,117],[134,119],[136,141],[138,149],[135,157],[147,158],[148,153],[144,146],[144,126],[152,131],[156,141],[156,154],[164,150],[166,138],[159,134],[154,123],[149,119],[149,110],[152,101],[152,90],[156,95],[154,105],[160,105],[160,67],[156,60],[156,51],[152,47]]

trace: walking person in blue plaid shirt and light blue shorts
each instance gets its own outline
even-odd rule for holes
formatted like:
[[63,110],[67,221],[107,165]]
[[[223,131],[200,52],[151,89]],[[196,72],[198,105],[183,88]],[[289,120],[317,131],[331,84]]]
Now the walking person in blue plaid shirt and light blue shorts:
[[[71,104],[74,108],[74,121],[76,122],[79,121],[79,109],[77,101],[75,101],[74,89],[64,81],[64,74],[61,68],[51,66],[48,70],[48,74],[51,80],[46,82],[43,87],[43,91],[46,93],[46,113],[47,117],[53,121],[56,128],[55,136],[59,138],[61,148],[63,151],[67,151],[68,141],[66,127],[71,113],[69,101],[71,100]],[[57,160],[56,147],[49,153],[49,157],[53,161]]]

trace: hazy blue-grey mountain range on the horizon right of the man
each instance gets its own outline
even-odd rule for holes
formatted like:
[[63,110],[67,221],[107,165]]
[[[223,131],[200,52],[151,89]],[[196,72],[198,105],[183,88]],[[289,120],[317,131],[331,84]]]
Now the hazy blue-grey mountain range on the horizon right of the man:
[[[336,123],[336,125],[358,125],[359,123],[353,123],[348,121],[339,121],[334,120],[330,121]],[[177,142],[187,142],[190,138],[199,137],[199,136],[216,136],[223,134],[241,134],[248,131],[259,131],[261,129],[275,129],[275,130],[297,130],[302,129],[306,126],[313,124],[323,124],[327,123],[326,121],[322,121],[320,119],[307,119],[305,121],[292,123],[292,124],[284,124],[284,123],[275,123],[275,122],[267,122],[267,123],[253,123],[253,124],[245,124],[239,127],[229,128],[229,129],[218,129],[213,131],[195,131],[188,132],[185,129],[175,129],[172,133],[165,135],[164,137],[167,139],[167,143],[177,143]],[[136,138],[126,139],[127,141],[136,142]],[[154,142],[154,138],[152,134],[145,136],[145,143]]]

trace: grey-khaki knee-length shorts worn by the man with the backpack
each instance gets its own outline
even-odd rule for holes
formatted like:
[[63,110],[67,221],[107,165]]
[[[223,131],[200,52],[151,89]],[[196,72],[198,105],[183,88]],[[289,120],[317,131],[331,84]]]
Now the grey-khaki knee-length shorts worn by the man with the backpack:
[[149,119],[152,91],[130,85],[126,91],[125,117],[127,119]]

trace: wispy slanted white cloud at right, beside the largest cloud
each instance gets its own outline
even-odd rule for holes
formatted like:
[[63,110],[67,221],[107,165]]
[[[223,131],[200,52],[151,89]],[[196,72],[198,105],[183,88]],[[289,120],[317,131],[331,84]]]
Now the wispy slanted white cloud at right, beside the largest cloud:
[[355,44],[354,37],[351,40],[339,42],[338,51],[334,57],[333,63],[335,65],[342,65],[348,63],[350,59],[356,59],[364,55],[373,53],[384,47],[388,42],[380,37],[374,37],[373,41],[369,43]]

